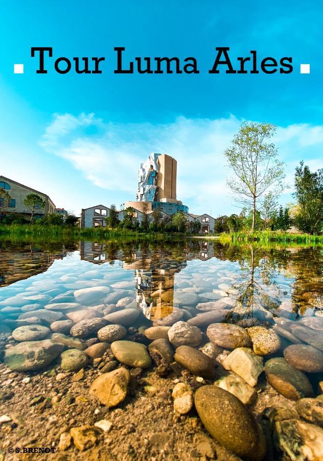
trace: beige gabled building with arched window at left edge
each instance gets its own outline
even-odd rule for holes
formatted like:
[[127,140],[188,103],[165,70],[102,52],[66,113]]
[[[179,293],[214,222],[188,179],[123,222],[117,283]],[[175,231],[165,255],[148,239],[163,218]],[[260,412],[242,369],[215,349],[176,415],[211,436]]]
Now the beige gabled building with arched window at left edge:
[[25,205],[25,199],[29,194],[37,194],[45,202],[44,208],[36,209],[35,217],[47,216],[48,213],[55,212],[55,204],[47,194],[36,191],[35,189],[20,184],[17,181],[0,176],[0,188],[4,189],[10,195],[8,206],[2,212],[4,214],[15,213],[22,217],[28,218],[31,215],[30,209]]

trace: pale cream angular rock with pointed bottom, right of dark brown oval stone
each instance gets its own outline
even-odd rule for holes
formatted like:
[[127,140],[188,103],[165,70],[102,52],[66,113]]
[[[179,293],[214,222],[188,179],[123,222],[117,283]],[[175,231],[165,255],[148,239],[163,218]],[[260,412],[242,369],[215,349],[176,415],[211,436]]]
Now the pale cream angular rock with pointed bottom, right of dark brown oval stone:
[[256,386],[258,376],[263,371],[263,358],[246,347],[232,351],[222,362],[226,370],[234,371],[250,386]]

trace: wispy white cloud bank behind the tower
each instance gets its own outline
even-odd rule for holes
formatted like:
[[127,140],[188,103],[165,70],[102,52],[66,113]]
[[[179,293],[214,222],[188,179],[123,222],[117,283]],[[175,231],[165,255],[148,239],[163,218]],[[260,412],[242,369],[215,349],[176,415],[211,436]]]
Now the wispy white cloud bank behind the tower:
[[[223,151],[241,120],[178,117],[172,123],[112,123],[95,114],[54,115],[40,140],[43,149],[70,161],[96,186],[129,193],[133,199],[140,163],[151,152],[168,153],[177,160],[177,199],[192,212],[213,210],[214,215],[236,211],[225,185]],[[292,124],[278,127],[274,142],[293,182],[301,159],[322,166],[323,126]]]

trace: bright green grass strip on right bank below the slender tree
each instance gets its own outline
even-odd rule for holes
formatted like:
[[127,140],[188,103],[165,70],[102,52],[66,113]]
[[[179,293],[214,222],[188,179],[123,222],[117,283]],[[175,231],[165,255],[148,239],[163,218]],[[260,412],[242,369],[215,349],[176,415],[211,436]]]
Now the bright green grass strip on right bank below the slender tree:
[[323,235],[310,234],[290,234],[288,232],[279,231],[256,231],[256,232],[233,232],[229,235],[231,241],[242,242],[295,242],[295,243],[323,243]]

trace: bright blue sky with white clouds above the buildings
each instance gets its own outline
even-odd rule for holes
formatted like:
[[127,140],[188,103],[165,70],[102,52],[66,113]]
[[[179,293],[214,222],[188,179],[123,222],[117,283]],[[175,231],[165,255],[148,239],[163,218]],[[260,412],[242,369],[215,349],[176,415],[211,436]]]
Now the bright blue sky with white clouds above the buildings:
[[[287,182],[304,159],[323,167],[318,2],[131,2],[13,0],[0,6],[0,173],[48,193],[76,214],[134,200],[137,170],[151,152],[178,161],[177,198],[192,213],[236,212],[223,151],[242,120],[278,126]],[[35,73],[34,46],[53,47],[48,74]],[[118,75],[126,57],[196,57],[199,74]],[[292,56],[294,72],[209,74],[215,47],[230,58]],[[104,56],[100,75],[54,71],[60,56]],[[23,75],[13,65],[23,63]],[[309,75],[299,65],[309,63]],[[281,202],[290,201],[290,193]]]

